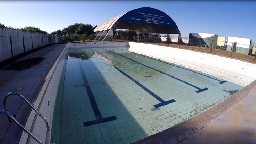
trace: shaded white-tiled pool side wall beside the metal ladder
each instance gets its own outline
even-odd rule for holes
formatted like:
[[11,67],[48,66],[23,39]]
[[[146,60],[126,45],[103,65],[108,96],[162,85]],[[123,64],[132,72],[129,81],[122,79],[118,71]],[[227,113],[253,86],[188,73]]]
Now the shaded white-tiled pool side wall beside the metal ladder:
[[[66,45],[63,52],[60,54],[59,58],[54,63],[52,69],[46,76],[46,82],[44,83],[37,97],[37,100],[34,103],[34,107],[36,107],[39,112],[41,112],[43,116],[46,117],[50,130],[52,128],[52,118],[60,76],[66,61],[66,54],[68,52],[67,48],[68,44]],[[36,137],[38,137],[43,143],[46,142],[46,124],[44,123],[43,119],[39,117],[33,110],[31,111],[30,116],[27,119],[25,127],[30,130]],[[34,139],[28,138],[28,134],[23,132],[19,144],[26,143],[37,144]]]

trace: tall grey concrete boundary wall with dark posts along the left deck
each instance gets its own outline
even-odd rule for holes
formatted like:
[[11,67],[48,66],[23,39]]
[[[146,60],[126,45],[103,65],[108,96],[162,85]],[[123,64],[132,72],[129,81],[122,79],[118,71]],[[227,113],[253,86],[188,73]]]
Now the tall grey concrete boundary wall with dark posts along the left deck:
[[52,34],[0,28],[0,62],[55,43],[64,41]]

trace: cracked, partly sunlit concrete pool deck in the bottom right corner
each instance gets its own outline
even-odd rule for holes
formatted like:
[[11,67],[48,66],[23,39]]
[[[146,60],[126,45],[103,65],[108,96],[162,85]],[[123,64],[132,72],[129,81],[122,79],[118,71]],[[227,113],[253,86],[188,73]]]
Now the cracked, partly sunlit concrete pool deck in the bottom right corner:
[[256,143],[255,94],[256,80],[197,116],[134,143]]

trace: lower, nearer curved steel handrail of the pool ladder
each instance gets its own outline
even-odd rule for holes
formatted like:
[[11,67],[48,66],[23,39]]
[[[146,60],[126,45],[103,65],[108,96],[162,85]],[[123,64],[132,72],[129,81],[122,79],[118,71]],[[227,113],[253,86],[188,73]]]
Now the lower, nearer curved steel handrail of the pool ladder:
[[30,135],[34,140],[36,140],[39,144],[43,144],[43,142],[38,139],[34,134],[32,134],[28,129],[26,129],[20,122],[17,121],[17,119],[14,118],[9,112],[0,110],[0,113],[5,114],[8,119],[16,123],[23,131],[25,131],[28,135]]

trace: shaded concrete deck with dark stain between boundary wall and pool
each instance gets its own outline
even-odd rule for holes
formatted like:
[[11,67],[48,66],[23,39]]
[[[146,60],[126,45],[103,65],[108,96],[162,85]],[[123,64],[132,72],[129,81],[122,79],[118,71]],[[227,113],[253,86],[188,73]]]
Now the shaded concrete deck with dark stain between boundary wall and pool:
[[[66,44],[54,44],[34,53],[28,54],[0,69],[0,109],[4,110],[3,99],[8,92],[17,91],[28,101],[36,101],[46,77]],[[18,96],[7,99],[9,112],[25,125],[31,108]],[[21,128],[9,123],[4,114],[0,115],[0,143],[18,143],[22,134]]]

